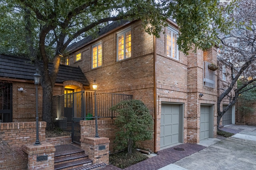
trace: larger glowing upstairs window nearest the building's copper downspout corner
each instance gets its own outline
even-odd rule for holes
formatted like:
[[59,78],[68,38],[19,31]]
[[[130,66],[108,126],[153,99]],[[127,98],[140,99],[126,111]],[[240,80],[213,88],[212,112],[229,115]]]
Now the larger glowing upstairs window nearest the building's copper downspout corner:
[[132,36],[131,28],[127,28],[117,33],[117,61],[130,58],[132,56]]

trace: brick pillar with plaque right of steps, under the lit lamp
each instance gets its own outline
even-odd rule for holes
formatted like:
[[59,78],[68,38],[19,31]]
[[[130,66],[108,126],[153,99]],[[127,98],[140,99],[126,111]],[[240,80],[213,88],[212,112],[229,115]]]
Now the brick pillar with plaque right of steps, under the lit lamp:
[[81,148],[88,154],[93,164],[109,164],[109,138],[82,137]]

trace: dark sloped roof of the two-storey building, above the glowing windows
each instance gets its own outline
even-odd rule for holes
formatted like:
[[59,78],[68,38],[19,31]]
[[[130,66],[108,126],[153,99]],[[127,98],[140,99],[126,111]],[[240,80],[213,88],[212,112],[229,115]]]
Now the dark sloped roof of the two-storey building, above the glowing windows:
[[[128,20],[118,20],[118,21],[114,21],[112,23],[110,23],[109,25],[103,27],[100,29],[100,31],[98,32],[98,36],[102,36],[108,32],[110,32],[111,30],[114,30],[115,28],[118,28],[120,26],[123,26],[125,24],[128,24],[130,21]],[[69,45],[66,50],[69,53],[74,52],[77,49],[80,49],[81,47],[83,47],[84,45],[86,45],[87,43],[91,42],[92,40],[94,40],[94,38],[92,36],[87,36],[86,38],[83,38],[82,40],[80,40],[79,42],[75,42],[72,43],[71,45]]]

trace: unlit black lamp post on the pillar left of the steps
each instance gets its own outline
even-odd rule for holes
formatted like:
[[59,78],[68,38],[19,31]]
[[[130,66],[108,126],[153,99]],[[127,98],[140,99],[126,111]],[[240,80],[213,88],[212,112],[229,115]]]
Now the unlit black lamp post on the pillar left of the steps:
[[33,75],[34,77],[34,81],[35,81],[35,85],[36,85],[36,142],[34,145],[40,145],[40,141],[39,141],[39,135],[38,135],[38,85],[40,82],[40,77],[41,75],[38,73],[38,69],[36,69],[36,73]]

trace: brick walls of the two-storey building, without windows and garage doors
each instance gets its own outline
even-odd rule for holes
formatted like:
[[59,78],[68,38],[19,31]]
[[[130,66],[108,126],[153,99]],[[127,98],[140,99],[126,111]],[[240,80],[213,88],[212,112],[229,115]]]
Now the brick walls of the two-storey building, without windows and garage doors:
[[[169,23],[176,28],[173,23]],[[131,29],[132,57],[116,61],[116,33]],[[102,42],[102,66],[92,69],[92,45]],[[82,59],[75,62],[74,55],[82,53]],[[217,78],[215,88],[203,86],[203,61],[216,63],[216,48],[207,51],[189,51],[186,56],[172,59],[166,53],[166,36],[155,38],[144,32],[140,21],[120,27],[109,34],[80,45],[70,54],[70,65],[80,67],[90,84],[98,83],[98,91],[133,95],[145,103],[154,118],[154,138],[141,142],[140,147],[150,151],[160,150],[160,125],[162,103],[176,103],[183,106],[183,142],[198,143],[200,140],[200,106],[213,106],[213,136],[216,136]],[[216,75],[216,72],[214,73]],[[92,89],[92,87],[90,87]],[[199,97],[203,93],[203,97]],[[90,126],[91,127],[91,126]],[[106,127],[108,128],[108,127]],[[111,127],[112,128],[112,127]],[[113,128],[113,130],[115,130]],[[93,130],[92,130],[93,131]],[[82,131],[83,132],[83,129]],[[109,132],[109,131],[108,131]],[[108,134],[104,135],[109,137]],[[112,138],[110,138],[110,150]]]

